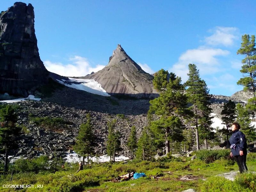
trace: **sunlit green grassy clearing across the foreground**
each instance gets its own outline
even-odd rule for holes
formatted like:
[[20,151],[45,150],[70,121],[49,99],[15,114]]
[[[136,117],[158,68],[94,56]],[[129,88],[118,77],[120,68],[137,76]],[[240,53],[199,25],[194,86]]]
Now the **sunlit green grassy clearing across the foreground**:
[[[256,171],[254,156],[255,153],[248,154],[247,166],[249,171]],[[238,170],[238,166],[233,160],[221,158],[212,163],[206,163],[199,159],[191,161],[190,157],[184,157],[183,159],[164,159],[164,162],[163,160],[155,162],[138,162],[133,160],[128,162],[116,162],[114,164],[90,164],[84,166],[84,170],[78,173],[76,173],[78,169],[77,164],[66,164],[65,170],[61,170],[60,168],[59,171],[54,173],[46,171],[45,166],[44,171],[39,171],[38,173],[29,171],[26,173],[16,172],[13,175],[12,182],[10,182],[10,174],[1,175],[0,191],[10,191],[2,187],[4,184],[44,185],[42,189],[31,188],[27,189],[27,191],[163,192],[182,191],[188,188],[196,189],[196,191],[211,191],[212,185],[217,186],[215,191],[228,191],[230,181],[222,177],[213,176]],[[118,175],[132,171],[144,172],[147,177],[137,180],[112,182]],[[193,180],[180,180],[183,176],[187,176]],[[234,191],[239,189],[253,191],[255,189],[255,183],[253,183],[255,182],[255,178],[255,174],[242,174],[238,176],[235,181],[236,188]],[[20,191],[23,192],[26,190],[22,189]]]

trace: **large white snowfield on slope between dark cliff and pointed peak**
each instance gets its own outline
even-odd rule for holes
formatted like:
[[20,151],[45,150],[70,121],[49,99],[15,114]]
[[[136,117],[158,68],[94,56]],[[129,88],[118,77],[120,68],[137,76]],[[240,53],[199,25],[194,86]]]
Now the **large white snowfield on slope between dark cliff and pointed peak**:
[[61,79],[57,81],[60,84],[63,84],[67,87],[71,87],[74,89],[78,89],[78,90],[82,90],[82,91],[86,91],[89,93],[93,93],[96,95],[101,95],[101,96],[110,96],[102,87],[101,84],[99,84],[97,81],[93,80],[93,79],[75,79],[75,78],[71,78],[68,77],[69,80],[64,80]]

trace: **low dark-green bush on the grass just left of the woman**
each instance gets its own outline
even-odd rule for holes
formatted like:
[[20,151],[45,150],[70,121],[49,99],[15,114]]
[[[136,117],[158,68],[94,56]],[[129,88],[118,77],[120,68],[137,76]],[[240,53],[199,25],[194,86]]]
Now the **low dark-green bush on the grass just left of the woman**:
[[219,150],[207,150],[203,149],[196,152],[196,158],[204,161],[205,163],[212,163],[218,159],[228,159],[230,154],[229,149],[219,149]]

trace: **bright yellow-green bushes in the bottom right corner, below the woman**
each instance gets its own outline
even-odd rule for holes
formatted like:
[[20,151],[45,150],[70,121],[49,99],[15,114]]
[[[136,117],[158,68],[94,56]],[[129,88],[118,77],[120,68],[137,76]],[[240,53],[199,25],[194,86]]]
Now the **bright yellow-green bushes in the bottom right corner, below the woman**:
[[201,191],[207,192],[253,192],[256,190],[255,187],[256,174],[243,173],[238,174],[232,182],[231,180],[225,179],[224,177],[211,177],[204,182],[201,187]]

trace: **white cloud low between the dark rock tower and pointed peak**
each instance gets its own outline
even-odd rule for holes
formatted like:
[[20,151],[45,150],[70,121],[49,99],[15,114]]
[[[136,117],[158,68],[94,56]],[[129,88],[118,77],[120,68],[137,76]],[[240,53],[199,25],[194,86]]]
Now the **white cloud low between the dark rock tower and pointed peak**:
[[97,65],[92,67],[86,58],[80,56],[74,56],[69,58],[71,64],[63,64],[60,62],[51,62],[49,60],[44,61],[45,68],[53,73],[57,73],[61,76],[85,76],[92,72],[97,72],[103,69],[104,65]]

